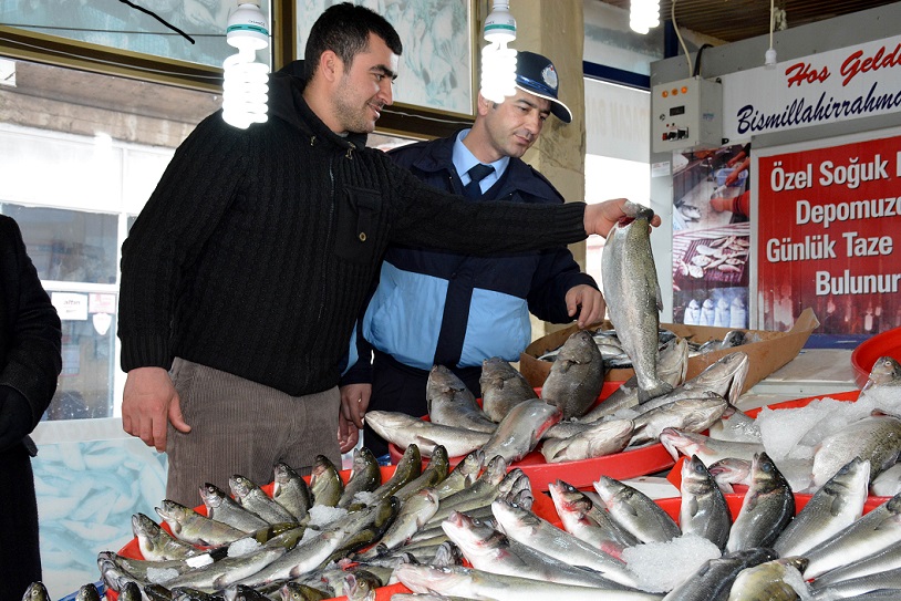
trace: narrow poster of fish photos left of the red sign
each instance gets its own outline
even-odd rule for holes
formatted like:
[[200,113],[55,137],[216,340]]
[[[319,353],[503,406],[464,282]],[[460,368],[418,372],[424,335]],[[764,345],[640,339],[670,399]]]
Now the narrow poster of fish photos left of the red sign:
[[673,321],[748,328],[750,144],[673,154]]

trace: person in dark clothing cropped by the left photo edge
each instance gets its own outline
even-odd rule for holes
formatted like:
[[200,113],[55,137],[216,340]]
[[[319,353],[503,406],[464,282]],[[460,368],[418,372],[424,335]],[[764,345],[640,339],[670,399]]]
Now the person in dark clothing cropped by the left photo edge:
[[38,500],[29,436],[41,419],[62,370],[62,330],[19,226],[0,215],[0,582],[20,599],[41,580]]

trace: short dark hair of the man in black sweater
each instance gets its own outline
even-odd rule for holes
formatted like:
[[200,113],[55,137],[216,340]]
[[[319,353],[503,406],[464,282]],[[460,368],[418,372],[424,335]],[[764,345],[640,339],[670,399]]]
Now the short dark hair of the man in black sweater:
[[310,39],[307,40],[303,55],[307,81],[312,79],[319,68],[319,59],[327,50],[333,51],[350,66],[353,58],[367,48],[370,32],[383,39],[393,53],[401,55],[401,37],[381,14],[350,2],[327,9],[313,23]]

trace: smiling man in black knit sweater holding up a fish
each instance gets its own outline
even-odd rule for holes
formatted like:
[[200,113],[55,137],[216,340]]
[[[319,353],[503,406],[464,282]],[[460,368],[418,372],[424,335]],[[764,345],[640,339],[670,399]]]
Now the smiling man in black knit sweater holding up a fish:
[[[365,147],[402,51],[348,2],[273,74],[269,120],[216,113],[179,146],[122,247],[123,427],[169,458],[167,496],[339,462],[338,365],[387,245],[511,253],[605,235],[621,201],[472,205]],[[302,70],[302,71],[301,71]]]

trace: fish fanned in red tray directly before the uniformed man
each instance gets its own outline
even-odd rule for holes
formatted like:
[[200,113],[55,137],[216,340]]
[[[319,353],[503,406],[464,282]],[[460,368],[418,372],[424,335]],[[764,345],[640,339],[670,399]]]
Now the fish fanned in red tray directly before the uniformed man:
[[686,369],[687,344],[673,338],[656,364],[667,392],[641,402],[635,376],[597,404],[600,353],[580,331],[563,344],[540,397],[515,367],[494,358],[483,365],[480,406],[453,372],[436,365],[426,391],[427,421],[389,411],[367,412],[365,419],[397,448],[415,444],[425,456],[442,446],[452,457],[481,449],[508,463],[535,449],[547,463],[590,459],[655,443],[667,427],[704,432],[741,394],[748,358],[733,352],[684,381]]

